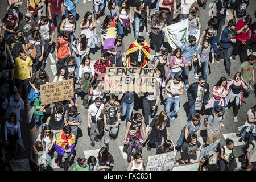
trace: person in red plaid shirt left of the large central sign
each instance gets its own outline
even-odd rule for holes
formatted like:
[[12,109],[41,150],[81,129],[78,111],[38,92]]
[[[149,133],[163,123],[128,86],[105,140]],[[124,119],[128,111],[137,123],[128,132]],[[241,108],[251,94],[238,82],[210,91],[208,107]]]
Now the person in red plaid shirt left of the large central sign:
[[113,67],[111,61],[108,60],[108,55],[102,53],[101,59],[97,60],[94,64],[94,78],[103,81],[105,78],[106,67]]

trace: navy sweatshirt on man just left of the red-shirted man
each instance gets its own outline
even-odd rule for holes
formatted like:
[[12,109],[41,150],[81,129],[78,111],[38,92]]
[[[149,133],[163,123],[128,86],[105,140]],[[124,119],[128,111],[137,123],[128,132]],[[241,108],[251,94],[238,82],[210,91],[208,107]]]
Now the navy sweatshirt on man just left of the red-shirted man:
[[231,39],[236,39],[235,35],[236,35],[236,28],[234,28],[234,30],[230,30],[229,27],[226,27],[224,29],[224,31],[222,31],[222,34],[221,34],[221,44],[220,44],[220,46],[223,47],[223,48],[232,47],[233,44],[231,42]]

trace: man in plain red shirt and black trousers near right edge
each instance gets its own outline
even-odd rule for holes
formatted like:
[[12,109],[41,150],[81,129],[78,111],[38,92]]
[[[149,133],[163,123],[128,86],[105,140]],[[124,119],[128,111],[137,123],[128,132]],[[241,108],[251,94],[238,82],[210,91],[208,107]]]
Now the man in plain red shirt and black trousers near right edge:
[[232,59],[236,60],[238,53],[241,63],[247,59],[247,50],[249,49],[249,30],[251,29],[251,17],[247,15],[245,19],[241,19],[236,24],[236,44],[234,45],[232,52]]

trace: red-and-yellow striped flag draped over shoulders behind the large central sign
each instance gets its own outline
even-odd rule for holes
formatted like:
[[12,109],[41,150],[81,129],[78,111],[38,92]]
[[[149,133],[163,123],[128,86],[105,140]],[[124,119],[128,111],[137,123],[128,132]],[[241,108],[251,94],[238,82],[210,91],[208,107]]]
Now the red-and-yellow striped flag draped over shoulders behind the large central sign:
[[[145,57],[141,58],[144,61],[142,61],[142,64],[140,65],[141,68],[144,68],[147,65],[147,59],[146,58],[148,58],[148,60],[150,60],[150,49],[149,49],[148,44],[147,44],[146,41],[145,41],[145,45],[141,46],[141,45],[139,45],[137,40],[135,40],[133,43],[131,43],[129,49],[126,51],[126,56],[128,56],[130,53],[133,53],[133,52],[138,51],[138,50],[142,50],[144,52]],[[130,56],[127,57],[126,67],[130,67]]]

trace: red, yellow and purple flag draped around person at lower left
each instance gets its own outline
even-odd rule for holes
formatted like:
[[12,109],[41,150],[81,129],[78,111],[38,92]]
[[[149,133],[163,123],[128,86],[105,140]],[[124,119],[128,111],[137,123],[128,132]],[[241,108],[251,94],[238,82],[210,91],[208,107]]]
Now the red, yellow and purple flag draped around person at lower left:
[[56,139],[55,150],[58,154],[64,156],[65,148],[68,145],[68,147],[71,149],[70,154],[72,154],[72,152],[74,150],[75,143],[76,143],[75,135],[73,133],[71,133],[71,135],[69,135],[68,139],[66,139],[65,132],[63,131],[62,134],[60,134]]

